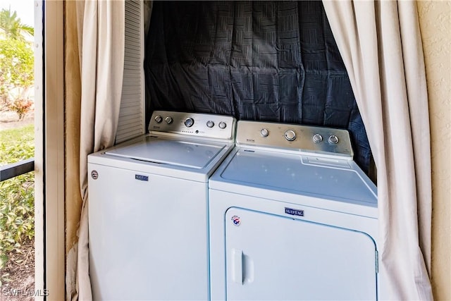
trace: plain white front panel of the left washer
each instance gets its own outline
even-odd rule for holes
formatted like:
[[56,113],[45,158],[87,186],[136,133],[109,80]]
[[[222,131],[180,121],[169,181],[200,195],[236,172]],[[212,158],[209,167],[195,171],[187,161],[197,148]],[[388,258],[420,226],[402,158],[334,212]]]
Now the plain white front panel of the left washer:
[[205,183],[89,164],[93,170],[94,300],[207,300]]

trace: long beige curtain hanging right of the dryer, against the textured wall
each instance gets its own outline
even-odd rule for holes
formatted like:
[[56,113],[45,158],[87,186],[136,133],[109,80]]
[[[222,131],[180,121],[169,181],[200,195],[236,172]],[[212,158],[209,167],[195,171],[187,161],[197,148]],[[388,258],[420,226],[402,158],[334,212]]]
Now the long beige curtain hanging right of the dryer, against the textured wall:
[[414,1],[323,1],[378,168],[380,300],[431,300],[431,153]]

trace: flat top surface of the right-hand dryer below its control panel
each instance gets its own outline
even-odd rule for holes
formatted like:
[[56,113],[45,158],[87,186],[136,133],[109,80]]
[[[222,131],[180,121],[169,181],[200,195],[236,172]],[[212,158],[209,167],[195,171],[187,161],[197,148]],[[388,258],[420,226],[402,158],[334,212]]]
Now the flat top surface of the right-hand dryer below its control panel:
[[[354,166],[354,167],[353,167]],[[253,187],[376,204],[352,160],[240,149],[221,178]]]

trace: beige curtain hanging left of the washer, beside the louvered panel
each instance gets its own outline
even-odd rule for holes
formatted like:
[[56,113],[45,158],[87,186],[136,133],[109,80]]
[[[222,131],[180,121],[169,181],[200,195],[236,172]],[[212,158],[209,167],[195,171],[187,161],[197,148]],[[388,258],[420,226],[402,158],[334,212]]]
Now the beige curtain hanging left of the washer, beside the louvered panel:
[[[66,9],[66,13],[70,14],[66,20],[70,35],[66,31],[66,37],[72,37],[70,45],[74,47],[68,49],[66,44],[66,59],[70,57],[73,60],[70,65],[66,64],[66,78],[70,78],[68,73],[71,71],[68,67],[77,67],[73,51],[78,51],[81,84],[80,105],[76,102],[77,97],[72,95],[74,103],[68,106],[72,111],[80,111],[80,123],[73,121],[68,125],[79,126],[80,136],[79,139],[66,138],[71,143],[68,148],[80,149],[80,164],[73,166],[75,169],[71,171],[78,170],[80,173],[80,195],[73,195],[73,184],[66,181],[72,187],[72,194],[66,193],[66,205],[80,212],[80,206],[77,207],[80,201],[77,198],[82,199],[81,214],[78,217],[73,212],[66,211],[66,225],[71,232],[67,235],[70,241],[66,244],[66,287],[69,300],[92,300],[89,281],[87,155],[110,147],[116,136],[123,82],[124,3],[105,0],[66,2],[66,8],[70,6],[73,9]],[[78,38],[76,42],[73,41],[75,36]],[[78,49],[75,49],[75,45]],[[67,111],[66,115],[69,116],[70,112]],[[70,133],[77,133],[77,130]],[[76,160],[70,161],[74,165]],[[75,228],[78,230],[75,231]]]

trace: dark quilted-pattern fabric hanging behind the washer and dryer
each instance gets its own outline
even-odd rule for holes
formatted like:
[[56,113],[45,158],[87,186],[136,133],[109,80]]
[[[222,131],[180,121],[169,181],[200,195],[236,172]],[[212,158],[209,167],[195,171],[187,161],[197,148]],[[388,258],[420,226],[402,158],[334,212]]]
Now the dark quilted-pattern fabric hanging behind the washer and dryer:
[[154,1],[147,122],[156,109],[350,130],[371,149],[321,1]]

